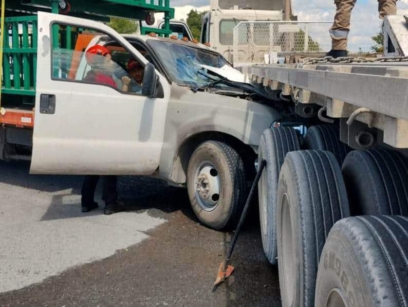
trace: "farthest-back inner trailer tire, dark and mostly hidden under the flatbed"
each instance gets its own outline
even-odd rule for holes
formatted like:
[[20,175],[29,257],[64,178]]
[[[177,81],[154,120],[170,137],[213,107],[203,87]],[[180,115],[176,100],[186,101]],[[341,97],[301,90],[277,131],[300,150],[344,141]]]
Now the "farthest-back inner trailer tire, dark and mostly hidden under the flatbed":
[[335,155],[339,165],[343,164],[344,158],[351,151],[351,148],[340,140],[340,129],[335,124],[310,127],[305,136],[304,148],[329,151]]

